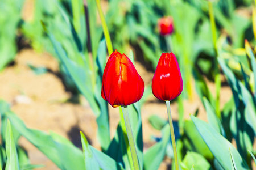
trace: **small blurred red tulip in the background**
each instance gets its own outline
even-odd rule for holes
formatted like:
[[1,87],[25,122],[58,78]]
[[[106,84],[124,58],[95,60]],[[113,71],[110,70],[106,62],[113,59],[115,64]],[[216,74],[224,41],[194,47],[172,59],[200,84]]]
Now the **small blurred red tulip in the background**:
[[159,19],[158,26],[161,35],[170,35],[174,31],[173,19],[171,16],[165,16]]

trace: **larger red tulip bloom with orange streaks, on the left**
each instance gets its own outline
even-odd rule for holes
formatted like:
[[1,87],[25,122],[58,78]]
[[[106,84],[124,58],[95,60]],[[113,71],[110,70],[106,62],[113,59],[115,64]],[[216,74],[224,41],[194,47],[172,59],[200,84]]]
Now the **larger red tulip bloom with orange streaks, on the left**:
[[139,101],[144,92],[144,82],[133,63],[125,54],[113,52],[103,73],[101,96],[112,107],[130,105]]

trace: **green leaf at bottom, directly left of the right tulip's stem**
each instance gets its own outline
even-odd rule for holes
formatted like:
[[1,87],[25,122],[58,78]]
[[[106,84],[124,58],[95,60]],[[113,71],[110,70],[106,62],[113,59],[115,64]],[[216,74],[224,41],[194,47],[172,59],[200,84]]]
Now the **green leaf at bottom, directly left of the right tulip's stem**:
[[166,155],[168,141],[170,141],[170,127],[169,124],[166,124],[162,129],[162,139],[144,153],[145,170],[154,170],[159,168],[160,163]]

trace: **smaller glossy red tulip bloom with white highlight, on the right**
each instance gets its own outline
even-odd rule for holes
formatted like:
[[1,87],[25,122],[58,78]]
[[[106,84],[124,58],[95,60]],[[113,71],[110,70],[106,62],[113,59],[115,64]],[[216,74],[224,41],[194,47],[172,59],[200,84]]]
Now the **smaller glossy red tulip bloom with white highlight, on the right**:
[[163,53],[152,80],[152,92],[160,100],[172,100],[181,94],[183,82],[173,53]]

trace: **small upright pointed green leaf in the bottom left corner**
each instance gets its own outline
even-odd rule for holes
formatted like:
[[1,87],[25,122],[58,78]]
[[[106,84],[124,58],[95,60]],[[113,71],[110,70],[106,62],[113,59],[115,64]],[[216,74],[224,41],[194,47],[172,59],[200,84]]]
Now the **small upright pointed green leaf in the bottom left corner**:
[[16,150],[15,141],[13,138],[13,131],[11,130],[10,121],[7,121],[6,127],[6,156],[7,156],[7,163],[6,163],[6,170],[18,170],[19,169],[19,160],[18,154]]

